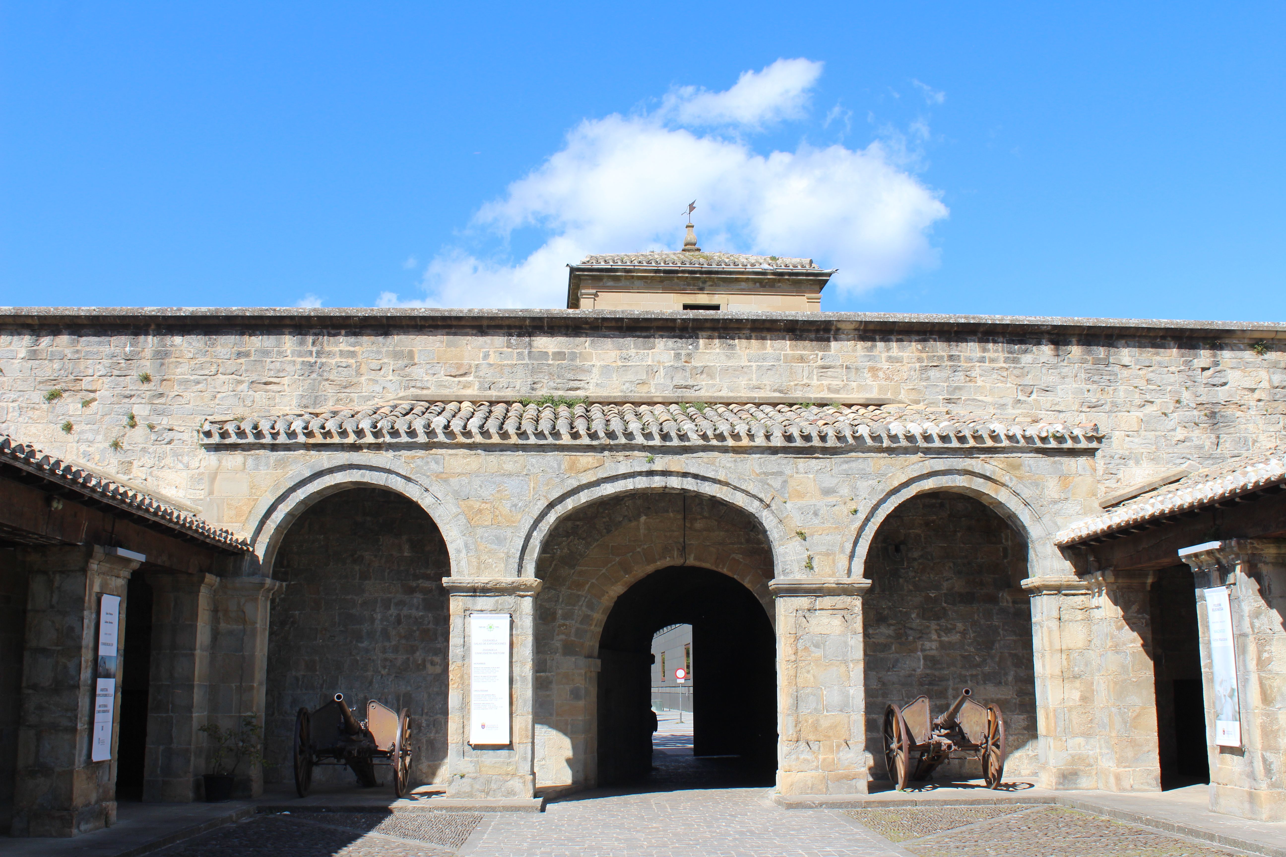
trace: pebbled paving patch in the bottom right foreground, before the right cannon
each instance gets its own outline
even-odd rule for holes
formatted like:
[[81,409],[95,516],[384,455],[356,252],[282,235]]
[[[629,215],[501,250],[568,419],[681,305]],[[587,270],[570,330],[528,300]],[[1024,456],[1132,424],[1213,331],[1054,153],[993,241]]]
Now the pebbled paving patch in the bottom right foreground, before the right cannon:
[[1065,807],[912,807],[847,815],[918,857],[1232,857],[1242,852]]

